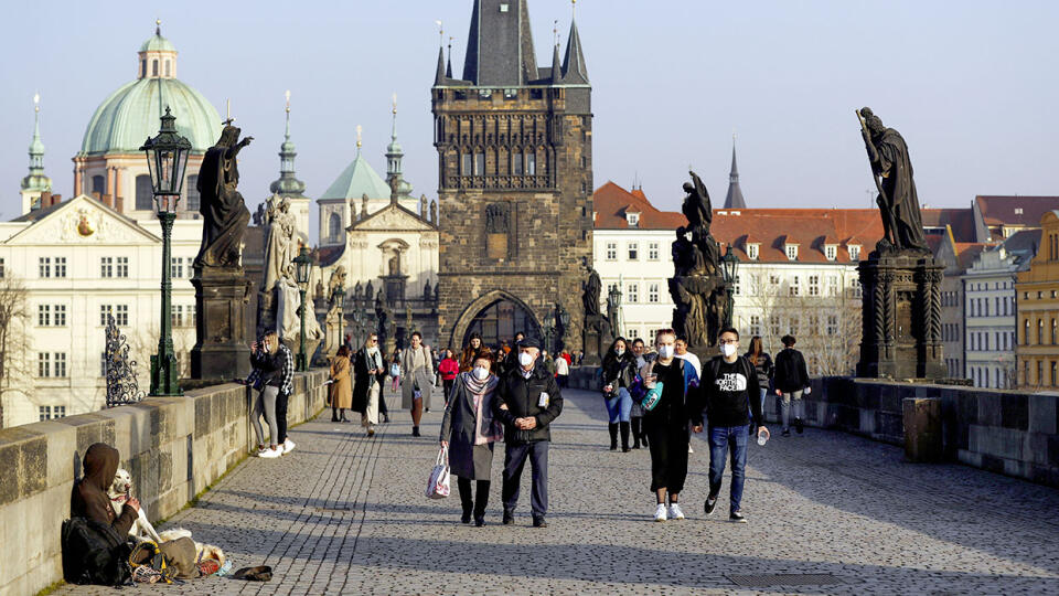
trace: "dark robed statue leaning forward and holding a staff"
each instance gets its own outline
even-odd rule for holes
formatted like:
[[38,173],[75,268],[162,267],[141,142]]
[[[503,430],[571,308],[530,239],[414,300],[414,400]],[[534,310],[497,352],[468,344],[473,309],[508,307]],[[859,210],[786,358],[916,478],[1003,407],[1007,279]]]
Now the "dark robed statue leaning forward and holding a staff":
[[884,233],[879,252],[892,247],[897,251],[929,253],[919,212],[919,196],[912,180],[912,162],[905,139],[897,130],[882,126],[882,120],[869,107],[857,110],[857,117],[871,163],[871,178],[879,190],[876,202],[882,215]]

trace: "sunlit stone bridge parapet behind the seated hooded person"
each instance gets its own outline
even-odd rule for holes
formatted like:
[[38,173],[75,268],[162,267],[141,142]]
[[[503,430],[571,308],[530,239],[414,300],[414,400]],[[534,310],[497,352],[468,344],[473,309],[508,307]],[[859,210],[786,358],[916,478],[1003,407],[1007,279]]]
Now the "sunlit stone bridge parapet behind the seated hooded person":
[[[323,408],[327,379],[322,370],[295,375],[289,424]],[[227,384],[0,430],[0,594],[62,579],[60,530],[89,445],[117,448],[150,519],[169,518],[255,446],[249,403],[249,390]]]

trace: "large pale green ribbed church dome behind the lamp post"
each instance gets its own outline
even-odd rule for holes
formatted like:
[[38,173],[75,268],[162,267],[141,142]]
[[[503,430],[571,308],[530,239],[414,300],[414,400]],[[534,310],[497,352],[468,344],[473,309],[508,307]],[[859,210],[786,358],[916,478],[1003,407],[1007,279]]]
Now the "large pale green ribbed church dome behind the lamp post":
[[195,152],[217,142],[221,115],[202,94],[175,78],[140,78],[122,85],[96,108],[79,155],[138,152],[145,140],[158,135],[167,106],[176,117],[176,130]]

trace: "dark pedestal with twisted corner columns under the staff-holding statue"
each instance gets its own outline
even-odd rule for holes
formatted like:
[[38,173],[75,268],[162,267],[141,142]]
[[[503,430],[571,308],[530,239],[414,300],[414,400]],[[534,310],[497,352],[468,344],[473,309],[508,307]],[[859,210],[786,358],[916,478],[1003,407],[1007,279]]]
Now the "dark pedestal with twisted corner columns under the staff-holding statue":
[[857,376],[944,379],[941,279],[929,254],[873,253],[857,267],[863,287],[863,332]]

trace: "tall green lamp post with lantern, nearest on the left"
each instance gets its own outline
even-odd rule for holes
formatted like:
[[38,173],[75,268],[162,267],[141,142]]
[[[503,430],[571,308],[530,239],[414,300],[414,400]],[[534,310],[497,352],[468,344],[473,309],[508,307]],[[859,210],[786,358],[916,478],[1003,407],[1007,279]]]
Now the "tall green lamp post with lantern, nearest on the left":
[[151,193],[158,220],[162,224],[162,306],[161,329],[158,339],[158,353],[151,356],[151,395],[183,395],[178,384],[180,366],[173,354],[172,292],[173,283],[170,270],[170,243],[173,221],[176,220],[176,204],[184,185],[184,170],[188,168],[188,155],[191,141],[176,134],[173,116],[169,106],[161,117],[162,127],[158,136],[147,139],[140,150],[147,153],[147,167],[151,173]]

